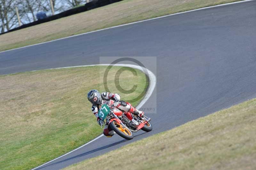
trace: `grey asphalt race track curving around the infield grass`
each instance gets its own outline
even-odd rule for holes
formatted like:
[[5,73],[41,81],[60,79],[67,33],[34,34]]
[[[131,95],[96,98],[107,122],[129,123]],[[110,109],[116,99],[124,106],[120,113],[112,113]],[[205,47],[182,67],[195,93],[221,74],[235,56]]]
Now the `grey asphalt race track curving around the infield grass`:
[[99,64],[105,56],[157,57],[157,98],[144,105],[157,101],[153,131],[131,141],[103,136],[38,169],[60,169],[256,97],[256,1],[2,52],[0,74]]

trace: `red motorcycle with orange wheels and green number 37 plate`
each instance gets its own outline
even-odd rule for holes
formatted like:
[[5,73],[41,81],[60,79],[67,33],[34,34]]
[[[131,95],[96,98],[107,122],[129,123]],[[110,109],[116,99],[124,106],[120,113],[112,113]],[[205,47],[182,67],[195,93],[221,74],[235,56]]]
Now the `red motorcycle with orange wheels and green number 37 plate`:
[[126,116],[129,112],[119,110],[113,103],[113,100],[110,100],[109,104],[103,103],[100,106],[98,115],[102,121],[106,119],[110,128],[119,136],[124,139],[131,140],[134,137],[133,132],[138,132],[140,129],[145,132],[150,132],[153,129],[150,123],[150,118],[145,115],[143,115],[143,117],[139,117],[130,113],[129,119]]

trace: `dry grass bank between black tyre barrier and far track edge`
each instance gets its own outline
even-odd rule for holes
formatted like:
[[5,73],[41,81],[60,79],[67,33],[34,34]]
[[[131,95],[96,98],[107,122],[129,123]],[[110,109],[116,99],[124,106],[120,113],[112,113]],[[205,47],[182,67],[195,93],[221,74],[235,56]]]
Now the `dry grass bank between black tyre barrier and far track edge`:
[[0,51],[239,0],[124,0],[0,35]]

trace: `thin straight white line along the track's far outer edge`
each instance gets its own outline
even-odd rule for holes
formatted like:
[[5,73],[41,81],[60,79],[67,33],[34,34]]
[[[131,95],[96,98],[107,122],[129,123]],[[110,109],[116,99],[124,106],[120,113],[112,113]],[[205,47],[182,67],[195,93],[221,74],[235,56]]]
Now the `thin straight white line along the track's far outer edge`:
[[[178,13],[174,13],[174,14],[170,14],[170,15],[164,15],[164,16],[161,16],[161,17],[152,18],[152,19],[145,19],[145,20],[141,20],[141,21],[137,21],[137,22],[131,22],[131,23],[128,23],[128,24],[123,24],[123,25],[118,25],[118,26],[114,26],[114,27],[99,29],[99,30],[96,30],[96,31],[91,31],[91,32],[83,33],[83,34],[72,35],[72,36],[60,38],[60,39],[57,39],[57,40],[47,41],[47,42],[44,42],[44,43],[50,43],[50,42],[53,42],[53,41],[58,41],[58,40],[66,39],[66,38],[76,37],[76,36],[79,36],[79,35],[95,33],[95,32],[98,32],[98,31],[103,31],[103,30],[107,30],[107,29],[111,29],[111,28],[123,27],[123,26],[126,26],[126,25],[131,25],[131,24],[136,24],[136,23],[140,23],[140,22],[150,21],[150,20],[153,20],[153,19],[169,17],[169,16],[172,16],[172,15],[178,15],[178,14],[182,14],[182,13],[193,12],[193,11],[198,11],[198,10],[203,10],[203,9],[209,9],[209,8],[214,8],[214,7],[218,7],[218,6],[224,6],[224,5],[238,4],[238,3],[242,3],[242,2],[248,2],[248,1],[255,1],[255,0],[237,1],[237,2],[227,3],[227,4],[220,4],[220,5],[208,6],[208,7],[204,7],[204,8],[198,8],[198,9],[195,9],[195,10],[190,10],[190,11],[185,11],[185,12],[178,12]],[[28,46],[24,46],[24,47],[19,47],[19,48],[15,48],[15,49],[11,49],[11,50],[18,50],[18,49],[21,49],[21,48],[31,47],[31,46],[34,46],[34,45],[39,45],[39,44],[44,44],[44,43],[37,43],[37,44],[28,45]],[[0,51],[0,53],[11,51],[11,50]]]

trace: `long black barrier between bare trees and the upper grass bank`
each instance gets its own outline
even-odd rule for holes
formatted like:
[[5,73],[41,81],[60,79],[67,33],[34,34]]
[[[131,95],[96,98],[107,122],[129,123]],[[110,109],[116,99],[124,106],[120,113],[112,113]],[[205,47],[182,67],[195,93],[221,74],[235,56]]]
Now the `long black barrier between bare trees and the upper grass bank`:
[[49,22],[49,21],[59,19],[59,18],[62,18],[62,17],[67,17],[69,15],[74,15],[76,13],[88,11],[88,10],[98,8],[98,7],[101,7],[101,6],[105,6],[105,5],[108,5],[108,4],[112,4],[112,3],[115,3],[115,2],[118,2],[118,1],[122,1],[122,0],[92,0],[92,2],[89,2],[89,3],[87,3],[83,6],[79,6],[79,7],[61,12],[59,14],[49,16],[45,19],[41,19],[41,20],[37,20],[37,21],[34,21],[34,22],[30,22],[28,24],[24,24],[20,27],[13,28],[13,29],[10,29],[9,31],[1,33],[0,35],[5,34],[5,33],[9,33],[9,32],[12,32],[12,31],[16,31],[16,30],[19,30],[19,29],[22,29],[22,28],[31,27],[31,26],[34,26],[34,25],[37,25],[37,24],[42,24],[44,22]]

